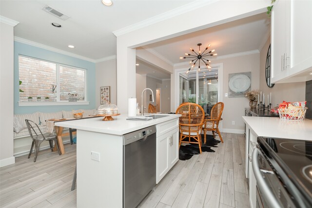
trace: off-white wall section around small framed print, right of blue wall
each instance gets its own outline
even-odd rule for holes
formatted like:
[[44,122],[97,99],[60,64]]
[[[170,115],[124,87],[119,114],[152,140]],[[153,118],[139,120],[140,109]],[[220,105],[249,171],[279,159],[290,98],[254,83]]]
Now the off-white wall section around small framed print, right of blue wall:
[[111,103],[117,104],[116,59],[96,63],[96,108],[100,105],[99,88],[111,86]]

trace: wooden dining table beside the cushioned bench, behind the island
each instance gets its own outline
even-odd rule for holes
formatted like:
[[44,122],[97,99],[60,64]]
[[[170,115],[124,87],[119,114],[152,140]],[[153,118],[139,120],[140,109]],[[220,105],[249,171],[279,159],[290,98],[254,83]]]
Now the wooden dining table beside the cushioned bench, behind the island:
[[[71,120],[87,119],[87,118],[94,118],[94,117],[102,117],[102,116],[92,115],[92,116],[81,117],[81,118],[53,118],[53,119],[48,119],[46,121],[53,121],[53,123],[56,123],[56,122],[62,122],[62,121],[71,121]],[[57,140],[59,143],[60,154],[65,154],[65,148],[64,148],[62,137],[69,136],[69,132],[63,133],[63,127],[61,126],[54,125],[54,129],[55,129],[55,133],[57,135]],[[72,132],[72,133],[76,134],[76,132]],[[56,145],[54,145],[53,151],[58,151]]]

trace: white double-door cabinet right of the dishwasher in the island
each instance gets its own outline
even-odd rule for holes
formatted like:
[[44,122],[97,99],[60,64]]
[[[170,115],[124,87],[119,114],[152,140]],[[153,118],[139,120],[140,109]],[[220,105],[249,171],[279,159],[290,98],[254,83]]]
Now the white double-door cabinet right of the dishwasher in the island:
[[178,161],[178,141],[178,119],[156,125],[156,183],[159,183]]

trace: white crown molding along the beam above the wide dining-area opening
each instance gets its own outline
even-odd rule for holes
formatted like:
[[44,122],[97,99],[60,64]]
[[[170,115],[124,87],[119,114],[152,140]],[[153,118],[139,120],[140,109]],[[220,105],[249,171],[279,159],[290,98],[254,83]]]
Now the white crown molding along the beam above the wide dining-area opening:
[[137,22],[135,24],[129,25],[127,27],[121,28],[119,30],[113,31],[113,34],[118,37],[124,35],[126,33],[130,33],[132,31],[138,30],[140,28],[155,24],[157,22],[161,22],[166,19],[170,19],[179,15],[182,15],[186,12],[190,12],[192,10],[198,9],[200,7],[206,6],[208,4],[214,3],[217,0],[196,0],[194,2],[185,4],[176,9],[172,9],[160,15],[156,15],[152,18],[145,19],[143,21]]

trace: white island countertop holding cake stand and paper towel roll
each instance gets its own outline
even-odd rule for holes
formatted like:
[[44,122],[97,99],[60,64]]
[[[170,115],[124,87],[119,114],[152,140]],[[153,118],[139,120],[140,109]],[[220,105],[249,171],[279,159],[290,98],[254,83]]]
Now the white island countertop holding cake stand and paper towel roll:
[[[146,113],[145,115],[149,114]],[[54,125],[72,129],[86,130],[91,132],[102,132],[108,134],[123,135],[168,120],[172,120],[181,116],[180,114],[159,114],[159,115],[168,115],[168,116],[152,119],[149,121],[136,121],[136,120],[126,120],[128,115],[121,114],[117,116],[112,116],[114,118],[113,121],[102,121],[103,117],[96,117],[80,120],[55,122]]]

